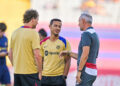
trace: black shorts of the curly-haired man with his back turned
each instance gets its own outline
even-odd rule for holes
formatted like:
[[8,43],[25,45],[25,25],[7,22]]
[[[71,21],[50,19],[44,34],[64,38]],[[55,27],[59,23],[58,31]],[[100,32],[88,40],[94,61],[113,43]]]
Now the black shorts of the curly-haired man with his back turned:
[[14,74],[14,86],[41,86],[38,73]]

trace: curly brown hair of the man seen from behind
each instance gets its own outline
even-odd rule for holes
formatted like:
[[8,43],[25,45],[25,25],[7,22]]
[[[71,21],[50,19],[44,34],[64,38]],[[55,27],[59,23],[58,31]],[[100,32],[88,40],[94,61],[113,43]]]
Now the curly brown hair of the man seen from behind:
[[29,9],[25,12],[24,16],[23,16],[23,22],[24,23],[28,23],[31,21],[32,18],[38,18],[39,14],[36,10],[33,9]]

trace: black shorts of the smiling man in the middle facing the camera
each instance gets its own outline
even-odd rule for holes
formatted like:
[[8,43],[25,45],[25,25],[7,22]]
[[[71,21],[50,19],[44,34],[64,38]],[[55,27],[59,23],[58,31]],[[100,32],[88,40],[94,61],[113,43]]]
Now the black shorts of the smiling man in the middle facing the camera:
[[63,76],[42,76],[42,86],[66,86],[66,80]]

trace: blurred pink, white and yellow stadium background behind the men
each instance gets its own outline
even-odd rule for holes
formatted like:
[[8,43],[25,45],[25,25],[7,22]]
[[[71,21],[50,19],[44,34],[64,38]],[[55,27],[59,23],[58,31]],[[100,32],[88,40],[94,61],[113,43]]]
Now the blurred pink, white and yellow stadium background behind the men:
[[[6,35],[23,25],[23,13],[34,8],[39,12],[37,30],[45,28],[52,18],[63,21],[61,36],[69,40],[72,50],[77,52],[81,32],[78,18],[83,11],[93,15],[93,26],[100,37],[100,53],[97,59],[98,77],[94,86],[120,86],[120,0],[0,0],[0,22],[8,26]],[[9,60],[13,83],[13,69]],[[74,86],[76,61],[72,59],[67,86]]]

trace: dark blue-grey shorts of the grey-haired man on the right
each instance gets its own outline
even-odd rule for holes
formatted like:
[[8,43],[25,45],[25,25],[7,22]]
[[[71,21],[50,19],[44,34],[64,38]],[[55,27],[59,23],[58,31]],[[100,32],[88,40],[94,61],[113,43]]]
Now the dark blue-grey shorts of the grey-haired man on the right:
[[76,83],[76,86],[93,86],[96,76],[92,76],[84,72],[81,75],[81,80],[81,83]]

